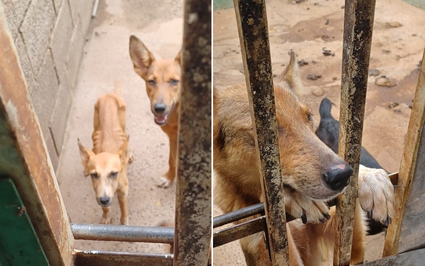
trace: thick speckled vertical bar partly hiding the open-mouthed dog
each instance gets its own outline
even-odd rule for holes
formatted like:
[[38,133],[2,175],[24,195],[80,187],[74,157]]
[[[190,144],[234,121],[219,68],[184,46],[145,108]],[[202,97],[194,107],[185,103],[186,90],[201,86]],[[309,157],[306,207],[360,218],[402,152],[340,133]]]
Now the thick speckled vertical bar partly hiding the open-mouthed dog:
[[174,266],[208,263],[211,244],[211,1],[185,0]]

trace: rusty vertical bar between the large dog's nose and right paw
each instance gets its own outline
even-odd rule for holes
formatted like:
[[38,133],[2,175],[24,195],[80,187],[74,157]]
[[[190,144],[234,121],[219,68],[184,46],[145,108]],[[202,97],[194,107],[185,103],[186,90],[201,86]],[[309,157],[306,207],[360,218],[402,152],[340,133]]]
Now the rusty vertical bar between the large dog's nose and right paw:
[[354,173],[336,207],[335,266],[350,264],[374,13],[375,0],[345,1],[338,150]]

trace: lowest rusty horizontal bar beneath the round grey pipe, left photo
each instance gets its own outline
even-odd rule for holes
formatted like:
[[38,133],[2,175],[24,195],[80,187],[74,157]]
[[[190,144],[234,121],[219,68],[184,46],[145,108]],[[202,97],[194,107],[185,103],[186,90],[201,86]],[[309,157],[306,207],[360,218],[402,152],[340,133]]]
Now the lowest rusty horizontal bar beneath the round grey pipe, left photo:
[[[71,265],[71,264],[70,264]],[[74,250],[74,266],[173,266],[173,254]]]

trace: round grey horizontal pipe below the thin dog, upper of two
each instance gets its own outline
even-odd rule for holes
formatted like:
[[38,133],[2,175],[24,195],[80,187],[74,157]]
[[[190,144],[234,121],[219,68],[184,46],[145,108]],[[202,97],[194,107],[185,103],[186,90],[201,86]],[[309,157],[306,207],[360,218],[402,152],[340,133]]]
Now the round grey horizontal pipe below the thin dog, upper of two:
[[174,242],[173,227],[129,226],[113,224],[71,224],[75,239],[145,243]]

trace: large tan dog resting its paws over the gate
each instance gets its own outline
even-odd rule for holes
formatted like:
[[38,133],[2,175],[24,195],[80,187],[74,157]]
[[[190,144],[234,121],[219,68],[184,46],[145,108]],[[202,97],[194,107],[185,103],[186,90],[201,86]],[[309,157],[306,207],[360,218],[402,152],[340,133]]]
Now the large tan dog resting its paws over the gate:
[[[343,192],[353,170],[314,134],[311,110],[295,94],[302,88],[296,62],[291,53],[288,67],[274,82],[285,208],[302,220],[286,224],[289,259],[291,266],[327,265],[336,224],[335,208],[329,210],[326,201]],[[213,112],[215,203],[231,212],[263,201],[246,85],[215,89]],[[384,170],[360,165],[358,186],[352,264],[364,257],[362,208],[387,224],[394,212],[393,186]],[[248,266],[272,265],[262,232],[242,238],[241,246]]]

